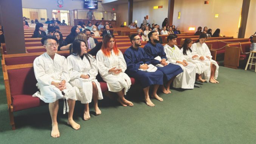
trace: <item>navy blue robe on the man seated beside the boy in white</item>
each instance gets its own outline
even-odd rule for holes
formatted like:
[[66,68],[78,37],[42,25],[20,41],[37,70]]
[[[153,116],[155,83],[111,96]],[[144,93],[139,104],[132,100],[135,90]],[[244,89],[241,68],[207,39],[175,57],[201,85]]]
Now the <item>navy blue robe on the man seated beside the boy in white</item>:
[[[144,46],[144,51],[146,52],[147,55],[149,55],[151,64],[153,65],[161,63],[160,61],[154,59],[157,56],[160,56],[161,59],[164,58],[167,60],[166,54],[164,52],[164,47],[160,43],[157,43],[156,45],[154,45],[151,42],[149,42]],[[169,63],[167,66],[164,66],[164,67],[157,67],[157,69],[163,72],[164,80],[167,80],[167,81],[171,80],[172,77],[183,72],[182,68],[179,65],[171,64],[171,63]]]

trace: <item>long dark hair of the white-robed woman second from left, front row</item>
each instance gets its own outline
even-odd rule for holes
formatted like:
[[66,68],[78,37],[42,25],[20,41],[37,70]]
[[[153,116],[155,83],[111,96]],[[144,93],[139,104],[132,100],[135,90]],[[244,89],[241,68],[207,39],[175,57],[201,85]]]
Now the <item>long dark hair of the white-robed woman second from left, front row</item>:
[[[71,55],[75,55],[75,56],[79,55],[80,56],[80,54],[81,54],[81,43],[82,42],[85,43],[85,41],[83,41],[83,40],[74,40],[73,41],[73,44],[72,44],[73,51],[70,52]],[[85,43],[85,45],[86,45],[86,43]],[[88,50],[88,47],[86,49]],[[90,61],[89,57],[92,58],[92,56],[90,56],[88,53],[84,54],[83,56],[85,56],[87,58],[87,60],[89,61],[89,63],[91,64],[91,61]]]

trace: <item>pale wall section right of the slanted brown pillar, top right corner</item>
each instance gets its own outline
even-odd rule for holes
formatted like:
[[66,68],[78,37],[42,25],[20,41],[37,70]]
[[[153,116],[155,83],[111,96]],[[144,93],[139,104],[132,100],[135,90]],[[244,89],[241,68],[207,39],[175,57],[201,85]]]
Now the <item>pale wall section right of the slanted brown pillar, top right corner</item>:
[[245,38],[250,37],[256,32],[256,0],[251,0],[247,19]]

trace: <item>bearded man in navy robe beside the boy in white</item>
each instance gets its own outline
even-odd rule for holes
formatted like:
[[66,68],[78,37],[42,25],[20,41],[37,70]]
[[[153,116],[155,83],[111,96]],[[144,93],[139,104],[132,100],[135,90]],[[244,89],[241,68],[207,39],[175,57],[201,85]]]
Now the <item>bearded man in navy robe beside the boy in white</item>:
[[[151,31],[148,34],[149,43],[144,46],[144,51],[149,55],[151,64],[158,65],[161,64],[163,67],[158,67],[164,74],[164,80],[167,81],[166,88],[161,85],[161,90],[163,93],[168,94],[171,93],[170,85],[174,78],[183,72],[182,68],[177,64],[166,63],[166,54],[164,52],[164,47],[159,42],[159,35],[155,31]],[[155,60],[156,57],[161,57],[161,60]],[[158,65],[159,66],[159,65]]]

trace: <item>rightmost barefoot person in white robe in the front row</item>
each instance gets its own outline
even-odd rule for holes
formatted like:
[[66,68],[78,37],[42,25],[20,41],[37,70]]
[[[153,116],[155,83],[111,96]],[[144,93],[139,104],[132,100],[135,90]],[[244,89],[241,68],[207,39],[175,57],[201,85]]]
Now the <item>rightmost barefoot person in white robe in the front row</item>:
[[211,59],[213,56],[211,56],[211,52],[205,44],[206,38],[206,34],[201,34],[199,39],[192,44],[191,49],[194,54],[199,55],[199,60],[205,63],[206,67],[208,67],[202,74],[203,79],[207,82],[219,83],[219,81],[216,80],[219,73],[219,65],[216,61]]

